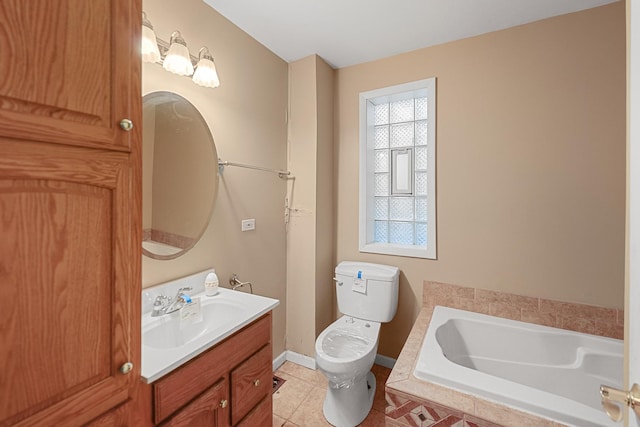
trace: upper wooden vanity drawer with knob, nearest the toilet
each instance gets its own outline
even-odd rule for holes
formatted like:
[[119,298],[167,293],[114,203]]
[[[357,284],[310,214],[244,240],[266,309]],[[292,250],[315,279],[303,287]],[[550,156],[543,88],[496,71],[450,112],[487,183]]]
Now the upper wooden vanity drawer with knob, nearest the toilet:
[[272,390],[271,346],[231,371],[231,423],[236,424]]

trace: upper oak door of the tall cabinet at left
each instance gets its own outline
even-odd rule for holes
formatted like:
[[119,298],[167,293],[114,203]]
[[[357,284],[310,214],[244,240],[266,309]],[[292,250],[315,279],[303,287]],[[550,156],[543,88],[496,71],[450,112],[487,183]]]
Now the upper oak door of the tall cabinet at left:
[[141,16],[141,0],[2,0],[0,136],[128,150]]

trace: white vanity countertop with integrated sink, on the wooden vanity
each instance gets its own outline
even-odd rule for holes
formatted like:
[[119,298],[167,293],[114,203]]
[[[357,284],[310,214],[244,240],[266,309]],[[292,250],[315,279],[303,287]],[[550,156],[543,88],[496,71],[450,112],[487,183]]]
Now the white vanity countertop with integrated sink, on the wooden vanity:
[[280,302],[273,298],[220,288],[217,295],[200,298],[202,319],[181,321],[180,311],[142,316],[141,376],[146,383],[168,374],[239,331]]

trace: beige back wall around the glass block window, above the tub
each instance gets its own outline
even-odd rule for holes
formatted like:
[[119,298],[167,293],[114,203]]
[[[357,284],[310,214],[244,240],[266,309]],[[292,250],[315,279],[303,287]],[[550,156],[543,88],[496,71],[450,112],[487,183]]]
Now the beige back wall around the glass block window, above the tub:
[[[397,265],[396,357],[424,280],[622,308],[624,2],[343,68],[336,257]],[[358,93],[437,77],[438,259],[358,252]],[[291,321],[291,320],[290,320]]]

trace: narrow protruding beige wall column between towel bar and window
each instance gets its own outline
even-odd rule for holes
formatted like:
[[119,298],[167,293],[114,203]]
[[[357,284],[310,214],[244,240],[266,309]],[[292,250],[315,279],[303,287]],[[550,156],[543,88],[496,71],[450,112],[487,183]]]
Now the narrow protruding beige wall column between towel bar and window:
[[333,319],[334,74],[315,55],[289,65],[287,349],[309,357]]

